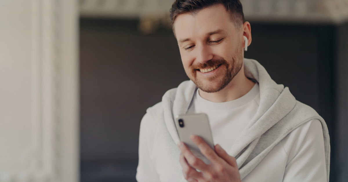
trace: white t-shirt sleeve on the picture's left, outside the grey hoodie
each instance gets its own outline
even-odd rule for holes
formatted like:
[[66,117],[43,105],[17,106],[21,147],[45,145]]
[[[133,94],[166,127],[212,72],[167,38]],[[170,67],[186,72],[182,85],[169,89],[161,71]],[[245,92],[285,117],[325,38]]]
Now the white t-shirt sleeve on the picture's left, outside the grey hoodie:
[[[152,162],[152,148],[157,125],[150,114],[146,113],[140,124],[139,134],[139,163],[136,180],[138,182],[159,182],[159,176]],[[151,157],[152,156],[152,157]]]

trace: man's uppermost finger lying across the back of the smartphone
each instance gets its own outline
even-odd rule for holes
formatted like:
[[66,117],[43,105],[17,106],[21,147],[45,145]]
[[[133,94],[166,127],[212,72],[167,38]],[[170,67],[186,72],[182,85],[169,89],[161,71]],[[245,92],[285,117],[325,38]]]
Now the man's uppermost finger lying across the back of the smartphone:
[[219,160],[219,156],[216,155],[215,151],[201,137],[191,135],[190,139],[197,145],[200,152],[211,162]]

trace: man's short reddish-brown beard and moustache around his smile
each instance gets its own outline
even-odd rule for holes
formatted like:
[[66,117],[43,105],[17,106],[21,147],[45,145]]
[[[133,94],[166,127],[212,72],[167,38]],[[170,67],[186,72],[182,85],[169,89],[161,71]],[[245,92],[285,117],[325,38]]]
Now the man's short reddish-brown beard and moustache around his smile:
[[[203,68],[211,68],[217,65],[220,65],[219,68],[222,66],[220,68],[222,69],[220,70],[222,71],[222,78],[219,78],[221,74],[214,74],[211,77],[205,78],[206,80],[208,80],[207,84],[203,83],[203,78],[197,78],[197,70]],[[242,66],[242,49],[237,49],[235,54],[233,54],[231,59],[228,61],[226,61],[224,58],[221,58],[217,60],[212,59],[203,64],[199,63],[196,65],[191,65],[189,68],[191,74],[188,74],[187,72],[186,74],[200,90],[207,93],[214,93],[219,92],[220,90],[225,88],[236,76],[236,74],[242,69]]]

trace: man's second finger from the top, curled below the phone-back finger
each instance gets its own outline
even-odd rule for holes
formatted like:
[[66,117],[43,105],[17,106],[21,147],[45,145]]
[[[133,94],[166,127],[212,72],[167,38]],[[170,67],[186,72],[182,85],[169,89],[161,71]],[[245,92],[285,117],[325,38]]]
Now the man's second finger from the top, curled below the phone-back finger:
[[207,168],[207,165],[201,159],[193,155],[190,149],[183,142],[179,142],[178,147],[181,150],[181,153],[184,155],[189,165],[191,165],[192,167],[196,169],[199,169],[200,171],[203,171],[204,169]]

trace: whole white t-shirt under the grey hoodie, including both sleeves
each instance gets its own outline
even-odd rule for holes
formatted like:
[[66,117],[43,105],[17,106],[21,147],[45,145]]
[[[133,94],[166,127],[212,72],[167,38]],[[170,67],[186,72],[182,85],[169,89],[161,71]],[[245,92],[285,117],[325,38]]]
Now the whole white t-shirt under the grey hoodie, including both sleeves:
[[[259,108],[259,85],[244,96],[229,102],[213,103],[193,96],[187,113],[206,113],[214,143],[227,152]],[[138,182],[176,182],[168,159],[166,142],[160,136],[156,121],[145,114],[140,125]],[[179,158],[177,159],[179,161]],[[266,155],[243,182],[326,182],[324,138],[317,119],[294,129]]]

